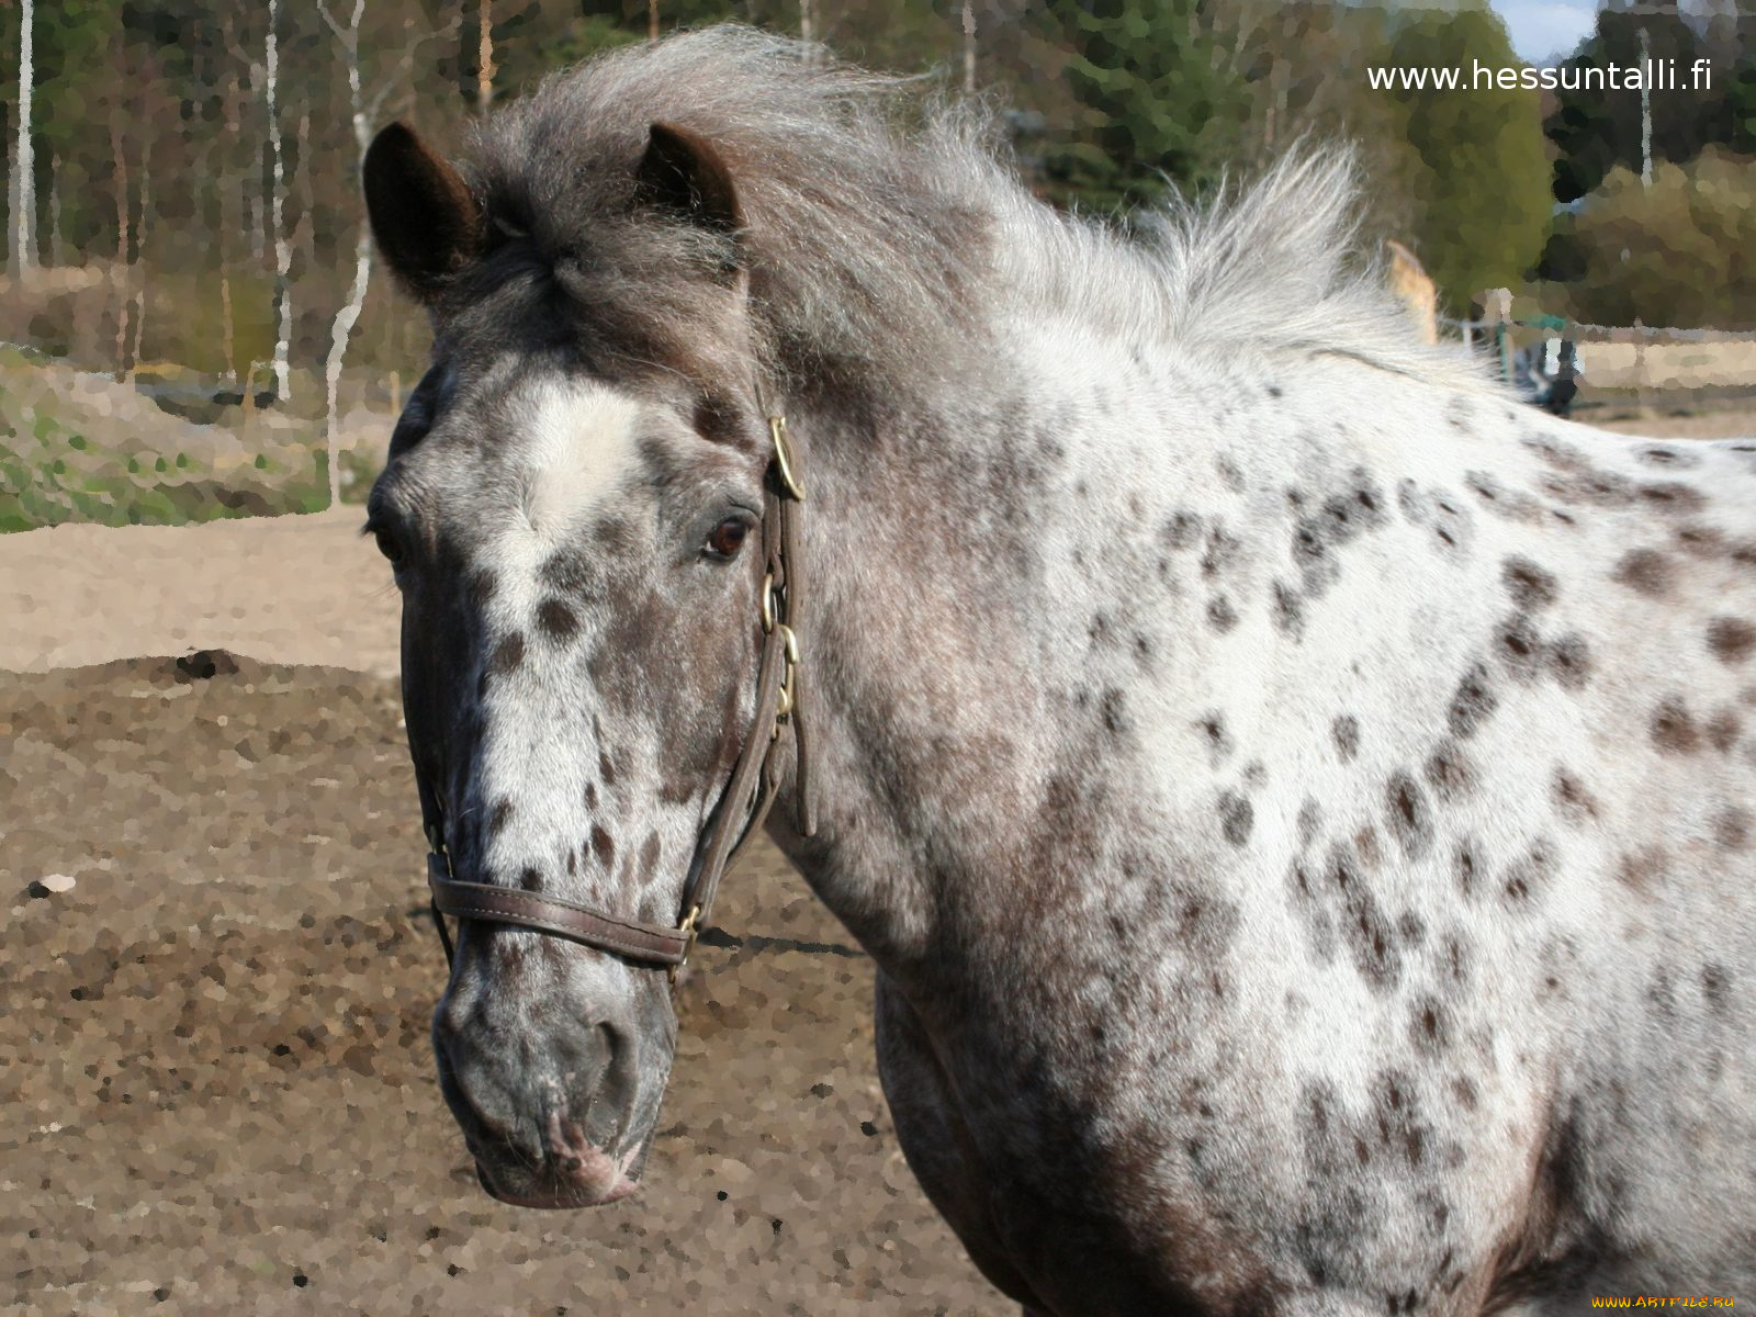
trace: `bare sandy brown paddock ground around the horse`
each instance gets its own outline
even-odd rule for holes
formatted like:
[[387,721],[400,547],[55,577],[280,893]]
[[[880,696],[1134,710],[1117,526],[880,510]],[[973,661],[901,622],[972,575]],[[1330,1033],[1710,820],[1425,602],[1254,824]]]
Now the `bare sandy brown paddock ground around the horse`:
[[[766,845],[680,990],[643,1192],[481,1194],[358,522],[0,536],[0,1305],[1011,1313],[901,1161],[871,964]],[[137,658],[195,648],[246,657]]]

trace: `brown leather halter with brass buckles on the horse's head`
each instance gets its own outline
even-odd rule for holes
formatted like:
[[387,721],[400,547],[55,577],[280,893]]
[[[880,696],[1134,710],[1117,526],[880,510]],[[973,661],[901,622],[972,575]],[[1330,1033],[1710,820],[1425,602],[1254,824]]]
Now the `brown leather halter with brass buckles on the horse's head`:
[[694,876],[683,890],[678,922],[671,925],[644,924],[578,901],[490,883],[457,882],[451,876],[451,855],[446,850],[444,810],[416,762],[414,778],[420,787],[421,824],[428,846],[427,885],[432,892],[434,925],[439,929],[446,964],[453,962],[455,952],[444,917],[453,915],[458,924],[464,920],[515,924],[613,952],[625,961],[669,966],[674,983],[678,969],[683,968],[695,946],[695,934],[701,932],[713,910],[720,878],[743,852],[757,827],[762,825],[780,794],[781,767],[774,752],[780,748],[780,734],[785,727],[792,729],[794,739],[799,831],[804,836],[817,832],[817,817],[811,806],[810,720],[804,692],[799,685],[799,637],[794,632],[804,599],[804,581],[799,571],[799,506],[804,502],[804,488],[797,479],[799,458],[787,439],[783,416],[769,416],[769,435],[774,443],[774,455],[764,474],[762,492],[762,550],[767,574],[762,581],[762,658],[757,666],[757,709],[738,753],[738,764],[732,767],[730,781],[720,795],[708,831],[697,843],[697,862]]

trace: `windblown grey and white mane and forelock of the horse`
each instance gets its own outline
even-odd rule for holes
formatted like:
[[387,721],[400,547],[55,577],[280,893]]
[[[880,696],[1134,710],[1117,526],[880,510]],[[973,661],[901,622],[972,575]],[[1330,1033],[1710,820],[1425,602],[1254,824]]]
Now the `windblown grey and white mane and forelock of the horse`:
[[[465,169],[523,265],[601,335],[680,356],[688,374],[734,369],[730,348],[702,342],[718,313],[699,270],[736,258],[755,348],[794,381],[945,379],[996,318],[1052,313],[1191,355],[1335,351],[1480,383],[1465,353],[1421,344],[1377,263],[1350,255],[1347,148],[1301,146],[1254,188],[1173,200],[1124,235],[1036,200],[985,104],[911,95],[918,84],[715,26],[551,76],[476,130]],[[651,123],[713,142],[743,234],[641,212]],[[495,269],[490,283],[507,262]]]

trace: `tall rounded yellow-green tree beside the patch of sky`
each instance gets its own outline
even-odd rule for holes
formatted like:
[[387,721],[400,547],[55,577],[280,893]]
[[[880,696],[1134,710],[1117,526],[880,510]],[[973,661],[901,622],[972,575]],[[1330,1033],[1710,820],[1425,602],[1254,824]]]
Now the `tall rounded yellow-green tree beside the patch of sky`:
[[[1517,65],[1501,21],[1486,7],[1410,14],[1387,65],[1489,68]],[[1403,193],[1415,249],[1442,297],[1465,307],[1482,288],[1524,279],[1542,253],[1552,202],[1535,90],[1403,90]]]

